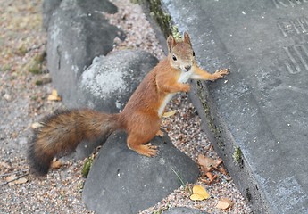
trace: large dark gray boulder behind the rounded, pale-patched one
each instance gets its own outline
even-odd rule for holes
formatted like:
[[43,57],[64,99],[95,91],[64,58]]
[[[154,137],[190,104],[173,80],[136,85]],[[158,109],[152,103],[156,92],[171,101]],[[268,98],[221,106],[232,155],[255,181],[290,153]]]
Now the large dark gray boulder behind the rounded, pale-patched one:
[[107,0],[62,0],[50,17],[47,68],[68,107],[77,106],[82,72],[97,55],[112,50],[115,37],[125,37],[104,19],[103,12],[116,12],[116,7]]

